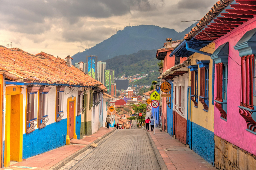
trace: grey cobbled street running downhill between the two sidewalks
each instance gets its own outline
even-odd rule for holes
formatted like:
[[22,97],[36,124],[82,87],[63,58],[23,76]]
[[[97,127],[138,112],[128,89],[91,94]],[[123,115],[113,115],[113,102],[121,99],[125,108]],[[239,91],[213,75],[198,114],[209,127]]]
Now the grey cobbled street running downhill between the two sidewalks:
[[145,130],[115,130],[60,170],[160,170]]

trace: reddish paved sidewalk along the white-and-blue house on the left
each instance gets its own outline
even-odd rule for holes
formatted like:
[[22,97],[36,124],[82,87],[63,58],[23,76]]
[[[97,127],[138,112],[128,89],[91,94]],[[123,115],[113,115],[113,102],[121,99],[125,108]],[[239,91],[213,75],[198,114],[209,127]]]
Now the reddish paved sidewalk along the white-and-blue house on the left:
[[70,145],[64,145],[62,147],[50,150],[48,152],[27,158],[25,161],[22,162],[12,162],[15,164],[10,163],[12,165],[3,169],[58,169],[59,167],[66,164],[80,153],[84,152],[86,149],[90,148],[90,144],[100,141],[102,138],[109,135],[115,129],[116,128],[107,129],[106,127],[101,127],[97,132],[89,136],[84,136],[83,139],[71,139]]

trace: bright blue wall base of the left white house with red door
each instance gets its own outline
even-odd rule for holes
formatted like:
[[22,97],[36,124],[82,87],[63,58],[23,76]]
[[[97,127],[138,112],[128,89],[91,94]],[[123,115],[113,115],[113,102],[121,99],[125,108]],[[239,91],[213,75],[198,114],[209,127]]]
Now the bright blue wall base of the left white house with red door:
[[[81,122],[81,116],[79,118]],[[80,131],[77,134],[80,138]],[[26,159],[65,145],[66,135],[67,119],[52,123],[42,129],[36,129],[29,134],[23,134],[23,158]]]

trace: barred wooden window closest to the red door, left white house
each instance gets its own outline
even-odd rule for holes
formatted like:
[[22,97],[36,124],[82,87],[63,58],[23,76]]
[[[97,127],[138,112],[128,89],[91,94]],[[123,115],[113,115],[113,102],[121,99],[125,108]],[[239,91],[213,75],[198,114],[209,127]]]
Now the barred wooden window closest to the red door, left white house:
[[64,115],[63,102],[64,102],[64,90],[65,86],[57,86],[57,96],[56,96],[56,122],[62,120]]

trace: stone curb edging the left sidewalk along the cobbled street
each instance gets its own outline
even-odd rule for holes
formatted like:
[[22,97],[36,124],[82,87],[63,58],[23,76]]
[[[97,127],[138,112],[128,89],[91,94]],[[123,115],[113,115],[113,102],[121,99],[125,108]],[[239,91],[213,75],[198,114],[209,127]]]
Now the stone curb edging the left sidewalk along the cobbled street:
[[74,159],[75,157],[77,157],[78,155],[80,155],[81,153],[83,153],[84,151],[86,151],[87,149],[89,149],[91,146],[91,144],[93,143],[97,143],[100,140],[102,140],[103,138],[107,137],[109,134],[111,134],[112,132],[114,132],[116,130],[116,128],[114,128],[113,130],[111,130],[110,132],[104,134],[103,136],[99,137],[98,139],[94,140],[93,142],[91,142],[90,144],[88,144],[87,146],[83,147],[82,149],[76,151],[75,153],[73,153],[72,155],[69,155],[68,157],[66,157],[65,159],[62,159],[60,162],[58,162],[57,164],[53,165],[51,168],[49,168],[49,170],[58,170],[59,168],[61,168],[63,165],[65,165],[66,163],[70,162],[72,159]]

